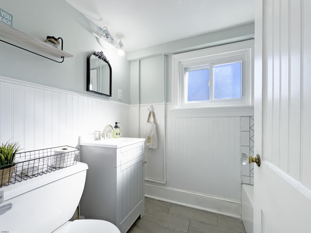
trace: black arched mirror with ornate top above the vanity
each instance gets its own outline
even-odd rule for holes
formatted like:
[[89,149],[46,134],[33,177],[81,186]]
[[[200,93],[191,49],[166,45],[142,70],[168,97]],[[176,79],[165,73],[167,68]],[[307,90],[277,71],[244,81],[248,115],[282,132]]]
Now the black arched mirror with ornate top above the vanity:
[[87,56],[86,91],[111,96],[111,66],[102,51]]

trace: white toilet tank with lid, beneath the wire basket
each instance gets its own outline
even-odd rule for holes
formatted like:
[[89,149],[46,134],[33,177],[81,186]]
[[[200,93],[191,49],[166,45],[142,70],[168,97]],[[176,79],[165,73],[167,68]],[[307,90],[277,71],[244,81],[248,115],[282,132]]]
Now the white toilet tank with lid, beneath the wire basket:
[[[77,162],[42,176],[0,188],[0,232],[52,233],[74,214],[86,181],[87,165]],[[2,208],[1,208],[2,207]]]

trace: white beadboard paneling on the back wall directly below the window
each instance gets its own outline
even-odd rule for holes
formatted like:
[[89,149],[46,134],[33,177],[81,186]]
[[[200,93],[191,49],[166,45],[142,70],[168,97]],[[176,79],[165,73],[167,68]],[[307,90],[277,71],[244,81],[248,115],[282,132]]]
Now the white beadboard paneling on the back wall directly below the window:
[[239,116],[172,116],[168,185],[241,200]]

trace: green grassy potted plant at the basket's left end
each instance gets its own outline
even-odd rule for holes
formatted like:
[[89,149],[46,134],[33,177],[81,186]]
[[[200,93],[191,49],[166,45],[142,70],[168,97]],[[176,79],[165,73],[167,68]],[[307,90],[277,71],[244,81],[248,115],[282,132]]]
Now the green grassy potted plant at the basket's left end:
[[0,146],[0,187],[12,179],[16,164],[15,154],[19,150],[17,142],[7,142]]

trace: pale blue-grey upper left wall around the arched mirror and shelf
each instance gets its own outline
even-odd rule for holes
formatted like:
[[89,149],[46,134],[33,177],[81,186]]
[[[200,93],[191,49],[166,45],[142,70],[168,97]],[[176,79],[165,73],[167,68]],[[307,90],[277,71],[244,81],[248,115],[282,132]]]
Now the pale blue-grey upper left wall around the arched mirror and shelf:
[[[91,34],[94,25],[65,0],[1,0],[0,8],[13,15],[13,28],[42,41],[47,35],[62,37],[64,51],[73,55],[58,64],[0,42],[0,75],[130,103],[130,63],[126,55],[120,57],[115,50],[104,50]],[[111,64],[110,98],[86,92],[86,57],[93,51],[103,51]],[[123,91],[122,100],[117,99],[118,88]]]

